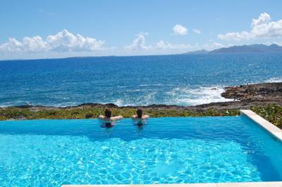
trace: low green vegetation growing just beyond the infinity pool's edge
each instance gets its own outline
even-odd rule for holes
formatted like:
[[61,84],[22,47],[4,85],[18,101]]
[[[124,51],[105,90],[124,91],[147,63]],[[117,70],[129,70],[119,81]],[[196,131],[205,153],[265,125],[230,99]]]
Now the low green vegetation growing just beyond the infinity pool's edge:
[[[11,119],[84,119],[95,118],[104,113],[105,107],[80,107],[80,108],[0,108],[0,120]],[[112,108],[114,115],[131,117],[135,114],[135,108]],[[185,108],[145,108],[145,113],[150,117],[197,117],[197,116],[232,116],[240,115],[239,110],[207,110],[196,112]],[[264,105],[252,107],[251,110],[261,115],[269,122],[282,129],[282,106]]]

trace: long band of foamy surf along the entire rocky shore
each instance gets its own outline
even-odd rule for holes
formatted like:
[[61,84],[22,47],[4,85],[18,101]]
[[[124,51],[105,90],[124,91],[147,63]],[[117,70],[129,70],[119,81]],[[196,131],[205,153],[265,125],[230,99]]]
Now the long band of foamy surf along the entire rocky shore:
[[[224,91],[224,86],[200,86],[197,88],[190,88],[188,86],[174,87],[168,91],[161,89],[142,90],[140,96],[134,96],[129,93],[125,93],[123,97],[114,98],[109,101],[87,101],[85,103],[114,103],[118,106],[129,105],[152,105],[152,104],[165,104],[165,105],[201,105],[215,102],[233,101],[233,99],[226,99],[221,97],[221,93]],[[135,91],[139,92],[139,89]],[[83,102],[83,101],[82,101]],[[61,103],[35,103],[29,101],[15,101],[1,103],[0,107],[7,107],[11,105],[45,105],[54,107],[66,107],[82,104],[81,101],[64,101]]]

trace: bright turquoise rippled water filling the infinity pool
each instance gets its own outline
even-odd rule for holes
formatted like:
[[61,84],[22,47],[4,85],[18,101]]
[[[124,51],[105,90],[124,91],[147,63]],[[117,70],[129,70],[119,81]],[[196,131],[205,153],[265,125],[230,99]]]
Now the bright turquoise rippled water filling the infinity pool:
[[282,181],[282,144],[247,117],[0,122],[0,186]]

